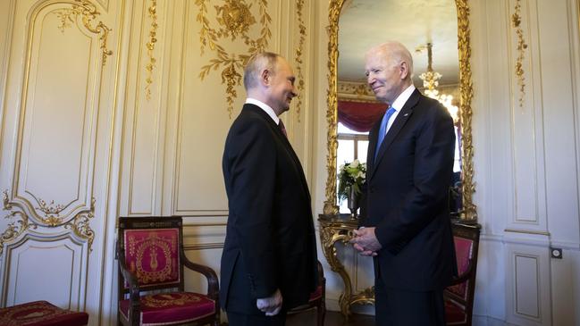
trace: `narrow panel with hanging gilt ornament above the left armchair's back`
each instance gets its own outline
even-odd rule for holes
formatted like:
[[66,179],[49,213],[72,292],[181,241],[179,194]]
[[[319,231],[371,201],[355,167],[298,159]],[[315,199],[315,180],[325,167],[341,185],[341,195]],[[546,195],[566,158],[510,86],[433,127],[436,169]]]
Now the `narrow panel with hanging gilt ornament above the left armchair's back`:
[[164,114],[167,111],[167,15],[172,2],[141,0],[131,11],[127,91],[124,98],[123,214],[159,212],[164,149]]

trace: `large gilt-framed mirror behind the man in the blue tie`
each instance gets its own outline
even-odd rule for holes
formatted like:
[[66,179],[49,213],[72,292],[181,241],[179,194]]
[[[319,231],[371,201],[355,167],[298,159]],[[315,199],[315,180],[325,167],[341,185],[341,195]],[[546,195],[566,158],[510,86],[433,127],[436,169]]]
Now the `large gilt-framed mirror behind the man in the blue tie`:
[[[413,79],[416,88],[425,94],[429,87],[424,85],[429,84],[430,78],[422,74],[431,71],[430,76],[433,76],[434,72],[438,72],[443,77],[437,80],[439,85],[434,89],[433,82],[431,83],[431,91],[438,92],[441,101],[445,99],[441,95],[454,98],[448,101],[447,106],[450,111],[454,110],[453,106],[456,106],[457,110],[455,121],[458,155],[454,171],[458,182],[455,183],[457,188],[451,192],[455,193],[458,203],[451,206],[456,207],[454,213],[460,219],[476,220],[475,205],[472,201],[475,192],[471,135],[473,88],[468,15],[467,0],[432,0],[421,5],[408,0],[330,1],[328,29],[330,73],[326,114],[328,179],[324,214],[339,213],[336,196],[337,163],[356,158],[357,153],[366,154],[365,133],[357,132],[361,131],[357,130],[357,127],[364,129],[362,121],[368,121],[370,118],[358,117],[357,114],[349,115],[349,111],[381,110],[380,104],[374,103],[374,96],[366,87],[364,54],[371,46],[393,39],[399,40],[413,54]],[[433,77],[431,80],[433,81]],[[382,113],[378,114],[382,116]],[[361,123],[352,123],[359,118]],[[353,154],[349,155],[349,151]]]

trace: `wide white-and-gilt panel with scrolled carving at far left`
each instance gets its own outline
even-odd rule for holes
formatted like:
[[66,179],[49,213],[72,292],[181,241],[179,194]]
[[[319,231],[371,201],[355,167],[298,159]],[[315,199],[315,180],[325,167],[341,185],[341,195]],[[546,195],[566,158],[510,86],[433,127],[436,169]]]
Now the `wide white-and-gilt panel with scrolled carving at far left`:
[[107,13],[102,4],[11,1],[7,30],[0,30],[8,42],[0,101],[0,305],[47,291],[57,305],[90,313],[91,326],[106,324],[109,307],[100,300],[111,302],[106,288],[113,278],[106,274],[113,257],[105,239],[113,238],[106,232],[115,217],[107,215],[115,212],[108,189],[123,7],[112,3]]

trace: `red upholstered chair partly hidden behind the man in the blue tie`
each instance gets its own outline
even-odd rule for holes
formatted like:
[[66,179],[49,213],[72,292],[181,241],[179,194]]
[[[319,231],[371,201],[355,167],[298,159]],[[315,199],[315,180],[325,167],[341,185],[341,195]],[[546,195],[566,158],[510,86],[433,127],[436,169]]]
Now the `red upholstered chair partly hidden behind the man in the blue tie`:
[[453,222],[458,277],[445,288],[445,318],[448,325],[471,325],[475,297],[475,272],[479,247],[479,224]]

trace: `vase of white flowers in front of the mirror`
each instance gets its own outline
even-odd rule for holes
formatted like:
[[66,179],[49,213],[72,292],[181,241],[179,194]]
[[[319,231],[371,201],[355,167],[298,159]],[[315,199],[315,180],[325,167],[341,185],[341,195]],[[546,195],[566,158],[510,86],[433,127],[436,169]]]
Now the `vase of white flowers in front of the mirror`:
[[351,163],[344,163],[339,167],[339,191],[340,201],[347,199],[349,201],[350,217],[357,218],[357,210],[361,188],[366,180],[366,163],[360,163],[354,160]]

